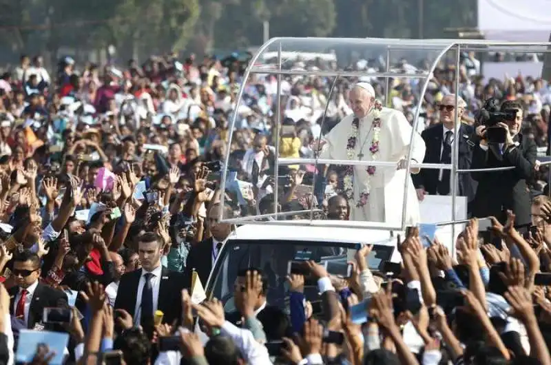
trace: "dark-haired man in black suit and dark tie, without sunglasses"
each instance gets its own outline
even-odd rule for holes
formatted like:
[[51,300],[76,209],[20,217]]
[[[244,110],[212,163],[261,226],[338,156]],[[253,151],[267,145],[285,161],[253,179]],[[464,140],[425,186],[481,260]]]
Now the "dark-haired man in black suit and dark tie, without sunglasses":
[[163,323],[179,322],[182,315],[180,298],[183,276],[169,271],[160,264],[163,246],[160,237],[153,232],[144,233],[138,241],[138,255],[142,269],[125,273],[118,284],[115,310],[124,309],[141,324],[152,338],[154,313],[163,312]]

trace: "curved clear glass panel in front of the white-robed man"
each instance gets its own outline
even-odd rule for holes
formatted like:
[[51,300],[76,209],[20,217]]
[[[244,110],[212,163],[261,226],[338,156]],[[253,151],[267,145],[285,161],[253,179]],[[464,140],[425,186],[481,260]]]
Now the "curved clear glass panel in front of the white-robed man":
[[[450,44],[289,38],[263,45],[231,121],[224,171],[231,209],[222,218],[386,229],[419,222],[415,189],[399,161],[407,160],[412,136],[412,158],[423,159],[424,143],[410,124],[433,63],[453,56]],[[376,108],[365,93],[375,94]],[[355,107],[351,96],[364,104]],[[393,110],[406,104],[413,112]],[[368,114],[356,119],[355,112]]]

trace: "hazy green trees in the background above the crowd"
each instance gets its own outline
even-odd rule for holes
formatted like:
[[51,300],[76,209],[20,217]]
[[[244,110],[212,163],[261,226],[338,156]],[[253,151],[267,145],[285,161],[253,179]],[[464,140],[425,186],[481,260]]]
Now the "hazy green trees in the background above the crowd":
[[[419,6],[423,21],[419,24]],[[474,27],[476,0],[0,0],[0,54],[105,49],[129,55],[234,50],[270,36],[443,38]],[[11,54],[10,54],[11,50]],[[200,51],[200,50],[199,50]],[[78,52],[78,51],[77,51]],[[3,57],[3,59],[2,59]]]

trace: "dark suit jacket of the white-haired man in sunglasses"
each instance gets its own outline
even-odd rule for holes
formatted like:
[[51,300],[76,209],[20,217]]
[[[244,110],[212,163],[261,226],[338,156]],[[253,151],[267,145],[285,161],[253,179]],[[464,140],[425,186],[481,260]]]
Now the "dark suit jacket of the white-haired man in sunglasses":
[[[461,123],[458,136],[454,137],[454,142],[459,140],[459,154],[457,156],[458,169],[470,168],[474,143],[468,142],[474,134],[475,129],[473,127]],[[444,125],[439,123],[437,125],[433,125],[432,127],[428,127],[422,132],[421,136],[423,137],[426,145],[423,163],[440,163],[441,148],[442,143],[444,142]],[[436,195],[439,183],[439,174],[440,170],[438,169],[421,169],[419,174],[412,175],[415,189],[423,187],[428,194]],[[457,195],[466,196],[468,202],[472,201],[475,198],[477,191],[477,182],[473,180],[468,173],[458,174],[457,177],[457,185],[459,186]]]

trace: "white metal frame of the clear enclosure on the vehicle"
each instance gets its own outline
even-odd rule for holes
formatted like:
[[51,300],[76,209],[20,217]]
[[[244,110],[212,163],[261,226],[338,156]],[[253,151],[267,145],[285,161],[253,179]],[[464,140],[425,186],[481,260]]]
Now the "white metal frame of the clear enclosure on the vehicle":
[[[318,50],[316,50],[316,46],[318,45]],[[300,48],[304,50],[304,52],[320,52],[319,45],[327,45],[329,46],[335,46],[338,47],[338,45],[344,45],[345,47],[349,48],[377,48],[377,49],[386,49],[386,70],[384,72],[365,72],[365,71],[324,71],[324,70],[283,70],[282,65],[284,60],[282,59],[282,52],[289,51],[290,48]],[[323,47],[324,52],[327,52],[330,48]],[[277,48],[277,64],[272,64],[271,68],[265,67],[265,65],[258,65],[257,62],[264,54],[264,52],[268,52],[268,50],[273,51],[273,48]],[[291,49],[291,52],[295,51]],[[391,51],[404,51],[404,52],[435,52],[435,59],[433,60],[432,64],[430,65],[429,70],[424,70],[421,72],[413,72],[413,73],[404,73],[404,72],[392,72],[391,71]],[[335,79],[333,80],[333,83],[331,84],[331,89],[329,91],[329,98],[331,94],[333,94],[333,90],[335,87],[335,84],[337,83],[337,80],[340,77],[362,77],[362,76],[368,76],[368,77],[375,77],[375,78],[384,78],[386,83],[386,100],[388,100],[389,95],[389,80],[391,78],[413,78],[413,79],[420,79],[423,81],[422,83],[422,96],[419,98],[419,105],[417,105],[416,112],[415,112],[415,119],[413,123],[413,133],[416,133],[417,131],[417,124],[419,123],[419,111],[421,110],[421,103],[424,100],[424,94],[426,93],[428,83],[431,79],[431,76],[437,67],[439,61],[444,58],[444,56],[452,51],[453,55],[455,56],[455,67],[456,70],[459,70],[460,66],[460,55],[461,52],[469,52],[469,51],[475,51],[475,52],[512,52],[512,53],[541,53],[541,52],[551,52],[551,43],[513,43],[513,42],[496,42],[496,41],[486,41],[486,40],[469,40],[469,39],[431,39],[431,40],[416,40],[416,39],[346,39],[346,38],[339,38],[339,39],[331,39],[331,38],[273,38],[267,41],[267,43],[264,43],[262,47],[258,50],[258,52],[255,54],[253,59],[251,59],[251,62],[249,63],[249,66],[247,67],[247,70],[244,74],[244,80],[242,85],[240,85],[240,89],[238,92],[238,99],[237,99],[237,105],[236,109],[239,105],[242,103],[242,96],[247,84],[247,80],[249,79],[249,76],[251,74],[273,74],[277,75],[278,79],[278,85],[277,85],[277,110],[275,115],[275,120],[277,121],[277,125],[275,126],[275,131],[273,133],[277,134],[279,136],[280,132],[280,123],[281,123],[281,94],[282,94],[282,76],[283,75],[304,75],[304,76],[325,76],[325,77],[331,77],[333,76]],[[274,69],[275,68],[275,69]],[[459,95],[459,72],[455,72],[455,95]],[[329,105],[329,102],[327,103]],[[457,128],[459,128],[459,123],[457,123],[457,96],[455,98],[455,125]],[[327,107],[326,107],[327,108]],[[325,113],[322,116],[322,125],[325,121],[325,114],[327,109],[325,110]],[[234,113],[230,124],[229,124],[229,140],[231,141],[233,138],[233,130],[236,126],[236,118],[237,113]],[[414,134],[412,133],[410,137],[410,147],[408,151],[408,158],[407,158],[407,165],[406,165],[406,171],[408,174],[406,174],[407,178],[404,181],[404,187],[407,187],[408,184],[408,176],[410,176],[409,171],[412,167],[422,167],[424,169],[451,169],[451,179],[452,179],[452,203],[451,203],[451,209],[452,209],[452,221],[451,222],[439,222],[438,225],[452,225],[452,235],[455,237],[455,226],[459,223],[464,223],[465,221],[459,221],[456,220],[456,198],[457,198],[457,174],[461,173],[467,173],[469,171],[501,171],[506,169],[513,169],[513,167],[499,167],[499,168],[492,168],[492,169],[477,169],[477,170],[470,170],[470,169],[457,169],[457,158],[458,158],[458,144],[453,144],[453,160],[452,164],[450,165],[441,165],[441,164],[428,164],[428,163],[411,163],[410,155],[413,149],[413,138]],[[280,138],[275,138],[275,156],[280,155]],[[222,176],[227,176],[229,169],[229,156],[230,156],[230,149],[227,148],[226,153],[226,160],[225,164],[222,170]],[[541,163],[541,165],[548,165],[551,161],[545,160]],[[361,166],[395,166],[395,162],[385,162],[385,161],[360,161],[360,160],[322,160],[319,158],[279,158],[277,157],[275,160],[275,176],[278,176],[278,171],[280,165],[296,165],[296,164],[330,164],[330,165],[361,165]],[[551,169],[550,169],[551,172]],[[551,176],[550,176],[551,180]],[[278,190],[278,179],[275,179],[275,189],[274,191]],[[221,189],[222,191],[225,191],[226,187],[226,179],[221,179]],[[404,202],[407,202],[407,196],[408,196],[408,189],[404,189]],[[221,195],[221,203],[224,204],[225,200],[225,194]],[[405,227],[405,219],[406,219],[406,205],[404,204],[402,207],[402,226],[401,227],[391,227],[390,225],[386,225],[384,222],[358,222],[358,221],[335,221],[335,220],[314,220],[313,219],[313,213],[315,211],[318,211],[318,209],[313,209],[311,207],[310,209],[310,219],[309,220],[265,220],[258,221],[262,218],[280,218],[284,216],[291,216],[296,215],[298,213],[304,213],[304,211],[288,211],[288,212],[278,212],[278,202],[277,199],[274,199],[274,207],[273,211],[275,213],[269,213],[264,215],[257,215],[257,216],[247,216],[247,217],[239,217],[239,218],[227,218],[222,216],[222,210],[220,213],[220,221],[227,222],[231,224],[244,224],[246,222],[256,222],[257,224],[267,224],[267,225],[309,225],[309,226],[324,226],[324,227],[350,227],[350,228],[366,228],[366,229],[384,229],[389,231],[404,231],[406,229]]]

